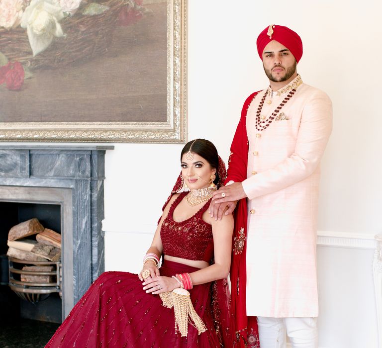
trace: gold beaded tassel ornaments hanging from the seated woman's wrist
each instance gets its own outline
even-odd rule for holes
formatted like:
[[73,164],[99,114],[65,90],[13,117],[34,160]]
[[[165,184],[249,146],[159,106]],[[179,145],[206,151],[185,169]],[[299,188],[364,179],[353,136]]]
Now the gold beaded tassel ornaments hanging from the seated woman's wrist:
[[171,292],[161,293],[159,296],[165,307],[174,307],[175,332],[179,331],[182,337],[186,337],[189,332],[189,322],[196,328],[199,335],[207,330],[203,321],[193,308],[190,292],[185,289],[177,288]]

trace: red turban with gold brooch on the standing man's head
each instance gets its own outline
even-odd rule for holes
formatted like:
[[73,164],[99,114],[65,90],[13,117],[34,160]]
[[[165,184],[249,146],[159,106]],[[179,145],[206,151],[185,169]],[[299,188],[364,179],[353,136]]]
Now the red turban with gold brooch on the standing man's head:
[[263,60],[265,46],[272,40],[276,40],[284,45],[292,53],[297,63],[299,62],[302,56],[301,38],[297,33],[286,26],[274,24],[265,28],[257,38],[257,52],[261,60]]

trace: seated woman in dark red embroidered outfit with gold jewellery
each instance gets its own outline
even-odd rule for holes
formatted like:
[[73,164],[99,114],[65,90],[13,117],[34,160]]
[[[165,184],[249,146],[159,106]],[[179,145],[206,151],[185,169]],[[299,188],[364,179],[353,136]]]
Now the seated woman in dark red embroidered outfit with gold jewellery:
[[226,280],[233,217],[207,212],[225,166],[211,142],[195,139],[181,167],[142,271],[102,273],[47,348],[233,347]]

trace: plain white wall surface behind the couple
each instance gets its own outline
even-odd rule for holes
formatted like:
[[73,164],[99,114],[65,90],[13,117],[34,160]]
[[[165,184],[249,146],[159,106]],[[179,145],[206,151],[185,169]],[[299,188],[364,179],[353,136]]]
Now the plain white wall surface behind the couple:
[[[189,0],[189,139],[227,160],[240,109],[267,86],[256,38],[283,24],[300,34],[298,71],[333,101],[322,161],[319,230],[381,232],[380,1]],[[182,145],[115,144],[106,154],[106,269],[139,271],[177,177]],[[349,235],[351,236],[351,235]],[[320,246],[320,347],[375,348],[372,250]]]

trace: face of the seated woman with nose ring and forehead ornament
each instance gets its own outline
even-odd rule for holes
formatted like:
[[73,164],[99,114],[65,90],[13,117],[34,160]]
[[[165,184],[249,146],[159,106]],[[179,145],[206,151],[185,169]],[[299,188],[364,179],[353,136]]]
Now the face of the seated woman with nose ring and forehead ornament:
[[191,190],[208,187],[210,182],[206,181],[211,181],[211,175],[216,173],[216,169],[195,153],[191,160],[186,159],[186,154],[184,154],[181,166],[183,179]]

